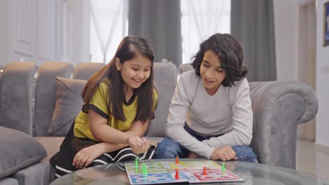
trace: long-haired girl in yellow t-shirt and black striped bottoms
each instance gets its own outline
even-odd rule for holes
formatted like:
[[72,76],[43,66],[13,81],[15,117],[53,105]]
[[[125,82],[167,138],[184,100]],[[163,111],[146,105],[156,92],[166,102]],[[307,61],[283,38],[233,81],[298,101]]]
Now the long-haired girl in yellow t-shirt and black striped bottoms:
[[82,111],[51,158],[56,177],[82,167],[134,160],[135,153],[153,156],[142,137],[157,102],[153,60],[148,41],[127,36],[110,63],[91,76],[82,91]]

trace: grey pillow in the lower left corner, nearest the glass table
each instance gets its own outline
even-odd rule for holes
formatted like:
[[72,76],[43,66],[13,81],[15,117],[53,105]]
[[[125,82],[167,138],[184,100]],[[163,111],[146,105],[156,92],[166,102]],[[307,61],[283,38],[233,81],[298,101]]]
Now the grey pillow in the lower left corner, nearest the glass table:
[[47,156],[37,140],[18,130],[0,126],[0,179]]

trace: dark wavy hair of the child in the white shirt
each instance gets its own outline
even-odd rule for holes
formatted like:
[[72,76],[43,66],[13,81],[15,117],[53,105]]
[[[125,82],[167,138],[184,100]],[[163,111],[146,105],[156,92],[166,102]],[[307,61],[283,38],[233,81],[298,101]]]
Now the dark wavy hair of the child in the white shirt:
[[240,43],[231,34],[214,34],[200,44],[200,50],[193,57],[193,68],[200,76],[200,66],[207,50],[212,50],[219,57],[221,67],[225,71],[224,87],[231,87],[234,81],[240,81],[247,75],[247,67],[243,66],[243,50]]

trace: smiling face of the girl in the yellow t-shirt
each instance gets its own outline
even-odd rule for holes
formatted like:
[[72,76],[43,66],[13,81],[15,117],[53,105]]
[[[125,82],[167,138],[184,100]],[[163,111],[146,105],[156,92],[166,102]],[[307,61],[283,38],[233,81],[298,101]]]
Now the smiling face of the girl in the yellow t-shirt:
[[122,79],[127,85],[127,92],[139,88],[150,77],[151,64],[151,61],[143,55],[138,55],[123,64],[116,58],[115,67],[120,71]]

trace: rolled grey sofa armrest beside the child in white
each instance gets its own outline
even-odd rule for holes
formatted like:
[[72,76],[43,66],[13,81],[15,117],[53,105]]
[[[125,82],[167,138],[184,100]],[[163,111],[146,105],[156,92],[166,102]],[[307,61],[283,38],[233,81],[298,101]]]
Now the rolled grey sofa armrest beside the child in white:
[[318,111],[314,90],[299,81],[250,83],[253,137],[259,163],[295,169],[297,125]]

